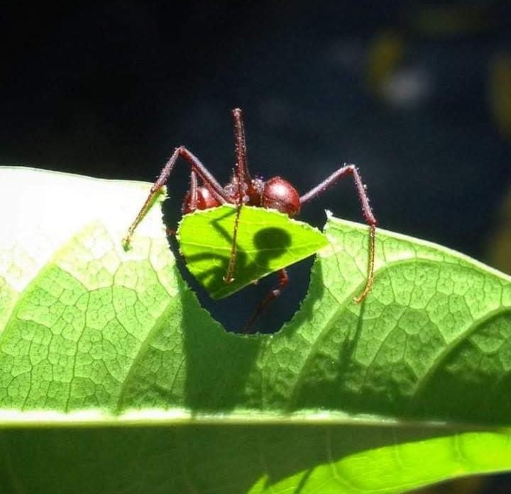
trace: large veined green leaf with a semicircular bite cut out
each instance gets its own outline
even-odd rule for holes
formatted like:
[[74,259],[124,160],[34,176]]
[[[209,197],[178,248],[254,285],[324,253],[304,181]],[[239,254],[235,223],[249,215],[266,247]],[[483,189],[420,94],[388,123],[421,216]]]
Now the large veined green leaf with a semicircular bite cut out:
[[158,207],[124,252],[148,184],[0,186],[2,493],[400,493],[510,469],[508,276],[378,230],[358,305],[367,228],[331,218],[292,321],[233,335]]

